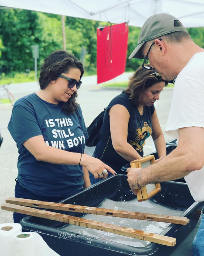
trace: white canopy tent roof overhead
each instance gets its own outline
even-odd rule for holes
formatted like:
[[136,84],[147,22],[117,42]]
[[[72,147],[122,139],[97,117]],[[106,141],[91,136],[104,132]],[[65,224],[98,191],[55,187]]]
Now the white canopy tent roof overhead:
[[0,6],[137,27],[153,14],[169,13],[185,27],[204,27],[204,0],[0,0]]

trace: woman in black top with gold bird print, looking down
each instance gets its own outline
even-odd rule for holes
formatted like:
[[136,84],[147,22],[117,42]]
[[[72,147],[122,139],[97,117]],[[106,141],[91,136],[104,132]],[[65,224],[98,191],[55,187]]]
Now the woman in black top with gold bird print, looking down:
[[[122,166],[143,157],[143,146],[150,135],[159,159],[166,156],[165,139],[154,108],[165,83],[154,70],[139,67],[135,71],[128,88],[112,99],[105,110],[94,157],[120,172]],[[91,184],[98,181],[91,174]]]

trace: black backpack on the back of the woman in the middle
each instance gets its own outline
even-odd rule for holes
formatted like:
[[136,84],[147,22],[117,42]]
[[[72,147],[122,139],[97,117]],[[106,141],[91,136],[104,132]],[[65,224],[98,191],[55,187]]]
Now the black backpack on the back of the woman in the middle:
[[90,124],[89,127],[87,127],[88,131],[88,139],[86,139],[86,146],[88,147],[93,147],[96,146],[97,142],[104,138],[107,135],[111,135],[109,132],[108,133],[103,133],[100,135],[100,130],[103,124],[103,117],[105,113],[105,109],[94,119],[94,121]]

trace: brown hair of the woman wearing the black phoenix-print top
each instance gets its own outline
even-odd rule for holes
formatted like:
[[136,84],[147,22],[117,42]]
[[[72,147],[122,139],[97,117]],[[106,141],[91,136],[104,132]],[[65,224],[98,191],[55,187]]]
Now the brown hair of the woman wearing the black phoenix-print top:
[[125,90],[125,92],[129,94],[129,99],[133,105],[139,106],[139,102],[141,101],[145,90],[155,83],[165,82],[165,86],[167,85],[167,81],[158,79],[153,73],[155,73],[154,70],[139,67],[133,76],[130,77],[128,88]]

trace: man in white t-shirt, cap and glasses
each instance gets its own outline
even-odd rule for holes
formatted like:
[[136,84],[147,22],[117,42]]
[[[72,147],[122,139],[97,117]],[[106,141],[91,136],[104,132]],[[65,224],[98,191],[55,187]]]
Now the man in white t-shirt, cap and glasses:
[[[194,200],[204,201],[204,49],[192,41],[180,21],[163,13],[147,19],[129,58],[145,58],[142,66],[155,69],[164,80],[177,77],[166,133],[179,141],[158,163],[129,168],[131,189],[184,177]],[[193,255],[204,255],[203,210]]]

